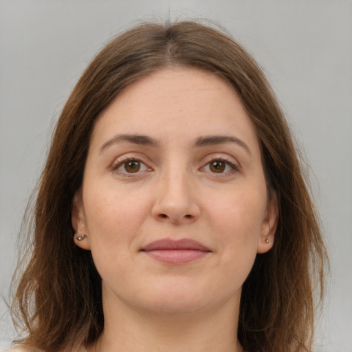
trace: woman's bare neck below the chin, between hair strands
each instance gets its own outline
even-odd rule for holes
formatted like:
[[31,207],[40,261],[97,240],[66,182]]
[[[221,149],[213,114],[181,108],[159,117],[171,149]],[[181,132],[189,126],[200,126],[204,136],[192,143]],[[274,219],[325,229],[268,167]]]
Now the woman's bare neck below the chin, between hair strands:
[[236,333],[239,303],[183,314],[113,308],[104,305],[104,331],[88,352],[243,352]]

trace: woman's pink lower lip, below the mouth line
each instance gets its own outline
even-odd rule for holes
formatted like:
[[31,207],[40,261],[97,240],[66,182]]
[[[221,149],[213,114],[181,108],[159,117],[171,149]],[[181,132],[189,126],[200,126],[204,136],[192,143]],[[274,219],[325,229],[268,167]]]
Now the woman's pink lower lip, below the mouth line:
[[184,264],[192,261],[197,261],[203,258],[210,252],[204,252],[201,250],[151,250],[144,252],[155,261],[168,264]]

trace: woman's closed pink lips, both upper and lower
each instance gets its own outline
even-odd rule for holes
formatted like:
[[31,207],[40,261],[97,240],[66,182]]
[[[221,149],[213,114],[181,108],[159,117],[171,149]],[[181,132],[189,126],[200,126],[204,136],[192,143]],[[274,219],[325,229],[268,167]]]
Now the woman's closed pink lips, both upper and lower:
[[162,263],[184,264],[197,261],[212,251],[192,239],[160,239],[148,243],[141,252]]

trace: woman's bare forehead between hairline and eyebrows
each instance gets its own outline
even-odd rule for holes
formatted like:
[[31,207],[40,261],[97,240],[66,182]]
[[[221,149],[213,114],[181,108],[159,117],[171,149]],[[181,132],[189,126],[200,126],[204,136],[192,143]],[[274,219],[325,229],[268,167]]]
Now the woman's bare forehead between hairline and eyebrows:
[[234,89],[217,74],[190,67],[163,69],[126,87],[98,116],[91,142],[117,133],[164,142],[235,134],[257,143]]

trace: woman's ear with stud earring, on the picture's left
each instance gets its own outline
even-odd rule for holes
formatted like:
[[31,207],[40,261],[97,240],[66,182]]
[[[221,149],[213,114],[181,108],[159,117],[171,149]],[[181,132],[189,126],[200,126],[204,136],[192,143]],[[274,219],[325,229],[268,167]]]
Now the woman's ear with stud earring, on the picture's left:
[[[74,243],[83,250],[90,250],[89,235],[87,234],[87,225],[85,220],[85,210],[83,208],[82,192],[78,191],[72,200],[71,211],[72,227],[74,228]],[[85,234],[81,240],[78,237]]]

